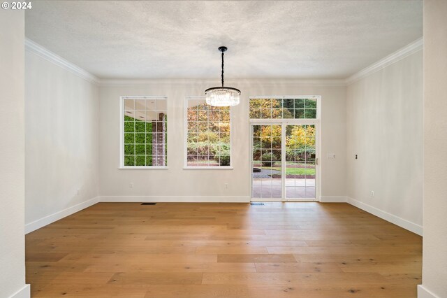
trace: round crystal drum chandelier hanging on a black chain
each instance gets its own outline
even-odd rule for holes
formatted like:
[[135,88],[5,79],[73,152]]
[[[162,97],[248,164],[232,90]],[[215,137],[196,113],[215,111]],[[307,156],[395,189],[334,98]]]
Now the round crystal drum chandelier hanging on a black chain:
[[207,104],[210,106],[236,106],[240,102],[240,90],[233,87],[223,87],[223,52],[226,47],[219,47],[222,52],[222,87],[211,87],[205,90]]

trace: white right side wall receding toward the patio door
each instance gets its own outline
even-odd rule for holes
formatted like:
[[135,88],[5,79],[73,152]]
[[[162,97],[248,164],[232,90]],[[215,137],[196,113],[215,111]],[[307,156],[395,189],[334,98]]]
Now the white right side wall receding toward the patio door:
[[423,51],[351,83],[346,111],[349,202],[421,234]]

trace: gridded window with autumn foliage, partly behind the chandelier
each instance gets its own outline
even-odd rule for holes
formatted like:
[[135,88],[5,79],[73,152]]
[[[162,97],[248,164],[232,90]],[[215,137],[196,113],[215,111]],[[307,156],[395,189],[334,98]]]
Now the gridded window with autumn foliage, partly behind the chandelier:
[[230,168],[230,107],[208,106],[205,97],[186,98],[187,168]]

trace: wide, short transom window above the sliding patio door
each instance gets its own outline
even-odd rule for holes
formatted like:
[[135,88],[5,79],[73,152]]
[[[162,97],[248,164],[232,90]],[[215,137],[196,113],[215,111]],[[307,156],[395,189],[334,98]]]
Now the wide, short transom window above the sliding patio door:
[[251,98],[250,119],[316,119],[316,97]]

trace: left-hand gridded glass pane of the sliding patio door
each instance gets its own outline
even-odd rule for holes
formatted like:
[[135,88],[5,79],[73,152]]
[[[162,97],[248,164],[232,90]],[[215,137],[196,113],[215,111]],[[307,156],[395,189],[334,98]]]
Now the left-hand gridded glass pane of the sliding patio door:
[[252,126],[251,197],[281,200],[281,125]]

